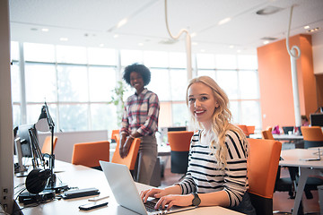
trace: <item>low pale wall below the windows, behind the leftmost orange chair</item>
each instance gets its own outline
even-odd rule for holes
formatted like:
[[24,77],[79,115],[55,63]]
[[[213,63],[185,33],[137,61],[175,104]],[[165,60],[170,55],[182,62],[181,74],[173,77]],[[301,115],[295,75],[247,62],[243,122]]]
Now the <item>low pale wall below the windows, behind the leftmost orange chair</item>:
[[[39,147],[50,133],[39,133]],[[65,132],[54,133],[57,136],[57,145],[54,150],[55,159],[71,163],[73,146],[79,142],[108,141],[108,131],[84,131],[84,132]]]

